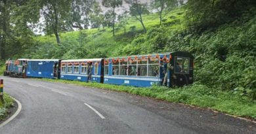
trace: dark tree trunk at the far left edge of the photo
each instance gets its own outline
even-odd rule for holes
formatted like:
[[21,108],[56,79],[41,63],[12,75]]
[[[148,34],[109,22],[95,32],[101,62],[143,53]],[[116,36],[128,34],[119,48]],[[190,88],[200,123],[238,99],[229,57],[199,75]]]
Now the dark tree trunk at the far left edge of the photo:
[[3,34],[1,39],[1,59],[5,59],[5,44],[7,38],[7,0],[3,0]]

